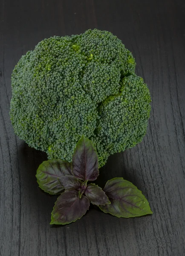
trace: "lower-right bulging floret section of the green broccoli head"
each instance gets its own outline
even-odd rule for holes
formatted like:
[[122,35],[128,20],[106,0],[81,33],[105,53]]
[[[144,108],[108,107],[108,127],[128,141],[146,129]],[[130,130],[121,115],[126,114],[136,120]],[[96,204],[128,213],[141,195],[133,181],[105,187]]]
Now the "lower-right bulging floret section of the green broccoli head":
[[150,116],[150,93],[143,79],[136,75],[120,81],[120,93],[109,96],[99,107],[92,140],[101,155],[99,145],[108,155],[124,151],[142,141]]

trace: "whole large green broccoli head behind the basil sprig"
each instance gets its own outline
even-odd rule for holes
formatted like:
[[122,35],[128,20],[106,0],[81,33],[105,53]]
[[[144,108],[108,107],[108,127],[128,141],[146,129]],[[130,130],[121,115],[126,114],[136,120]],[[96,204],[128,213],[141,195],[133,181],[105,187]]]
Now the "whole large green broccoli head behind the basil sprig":
[[84,134],[103,166],[146,133],[151,99],[135,66],[131,52],[107,31],[44,39],[12,73],[15,133],[49,159],[67,161]]

